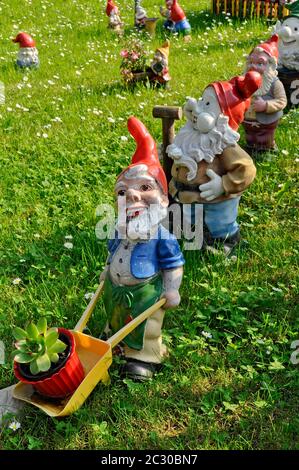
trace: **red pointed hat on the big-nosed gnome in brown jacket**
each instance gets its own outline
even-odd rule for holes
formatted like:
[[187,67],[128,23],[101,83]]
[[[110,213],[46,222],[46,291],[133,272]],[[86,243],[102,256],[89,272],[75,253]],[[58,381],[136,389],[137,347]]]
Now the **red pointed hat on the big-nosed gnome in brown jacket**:
[[233,77],[228,82],[214,82],[220,108],[228,118],[229,126],[237,130],[249,108],[250,97],[261,86],[262,76],[258,72],[247,72],[244,76]]

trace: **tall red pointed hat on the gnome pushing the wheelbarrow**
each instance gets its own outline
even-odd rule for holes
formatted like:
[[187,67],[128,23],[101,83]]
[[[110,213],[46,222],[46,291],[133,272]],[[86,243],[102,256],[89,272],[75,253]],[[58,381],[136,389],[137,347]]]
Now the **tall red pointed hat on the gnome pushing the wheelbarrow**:
[[137,149],[132,157],[132,163],[121,172],[117,179],[126,171],[137,165],[146,165],[148,173],[155,178],[165,194],[168,193],[167,179],[159,162],[156,142],[139,119],[131,116],[128,119],[128,129],[137,143]]

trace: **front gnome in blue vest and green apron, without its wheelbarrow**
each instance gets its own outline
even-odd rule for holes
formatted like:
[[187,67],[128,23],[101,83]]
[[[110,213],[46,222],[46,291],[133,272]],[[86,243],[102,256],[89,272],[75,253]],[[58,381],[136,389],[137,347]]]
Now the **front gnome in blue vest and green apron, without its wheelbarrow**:
[[162,225],[167,215],[168,188],[156,144],[135,117],[128,129],[137,143],[129,165],[117,178],[115,193],[119,210],[115,238],[109,241],[110,256],[101,280],[104,304],[112,331],[166,299],[156,311],[124,339],[126,363],[122,376],[147,380],[166,355],[161,328],[165,309],[180,302],[179,287],[184,259],[179,244]]

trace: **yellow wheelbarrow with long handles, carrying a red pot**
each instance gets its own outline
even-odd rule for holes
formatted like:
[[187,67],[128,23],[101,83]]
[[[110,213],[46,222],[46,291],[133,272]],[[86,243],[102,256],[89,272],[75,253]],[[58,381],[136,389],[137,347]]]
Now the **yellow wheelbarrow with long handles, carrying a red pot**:
[[117,333],[111,336],[107,341],[102,341],[82,333],[83,328],[97,304],[102,289],[103,282],[99,285],[96,293],[73,330],[76,350],[85,372],[85,377],[77,390],[69,397],[60,400],[43,397],[36,393],[31,385],[19,382],[13,391],[14,398],[37,406],[52,417],[68,416],[80,408],[100,381],[105,384],[110,383],[108,369],[112,364],[112,349],[140,325],[140,323],[162,307],[165,303],[165,299],[159,300],[145,310],[138,317],[117,331]]

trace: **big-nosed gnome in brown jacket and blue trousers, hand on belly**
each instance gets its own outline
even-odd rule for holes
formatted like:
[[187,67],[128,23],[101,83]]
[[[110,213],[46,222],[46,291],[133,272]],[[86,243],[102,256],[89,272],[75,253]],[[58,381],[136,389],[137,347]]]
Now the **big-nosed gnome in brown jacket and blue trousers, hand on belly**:
[[[237,223],[242,192],[252,183],[256,169],[237,144],[237,129],[249,107],[250,96],[261,84],[257,72],[211,83],[198,101],[184,106],[187,124],[166,149],[173,159],[169,193],[183,204],[186,220],[194,223],[195,203],[203,204],[205,248],[229,254],[240,240]],[[191,213],[185,212],[192,204]],[[191,217],[191,220],[190,220]]]

